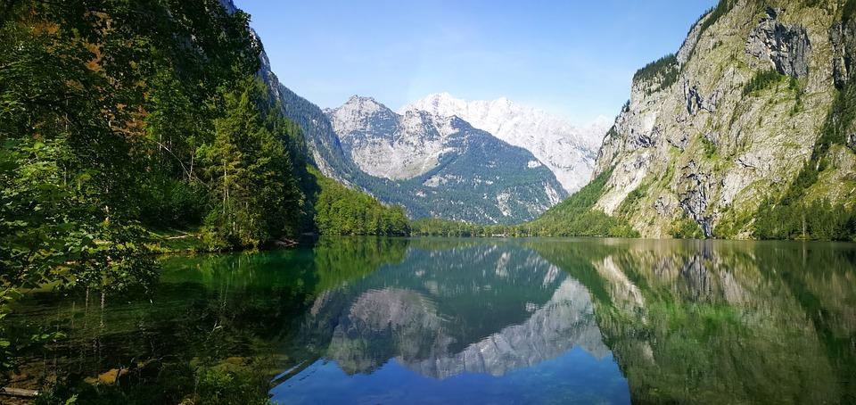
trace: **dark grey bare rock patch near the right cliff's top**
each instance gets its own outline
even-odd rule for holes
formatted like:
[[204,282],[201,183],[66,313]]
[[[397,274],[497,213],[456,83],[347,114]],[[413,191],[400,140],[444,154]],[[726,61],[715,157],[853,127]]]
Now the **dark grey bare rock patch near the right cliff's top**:
[[805,28],[800,25],[785,25],[777,20],[780,11],[767,9],[749,34],[746,52],[759,59],[768,60],[783,75],[803,78],[809,74],[811,42]]

